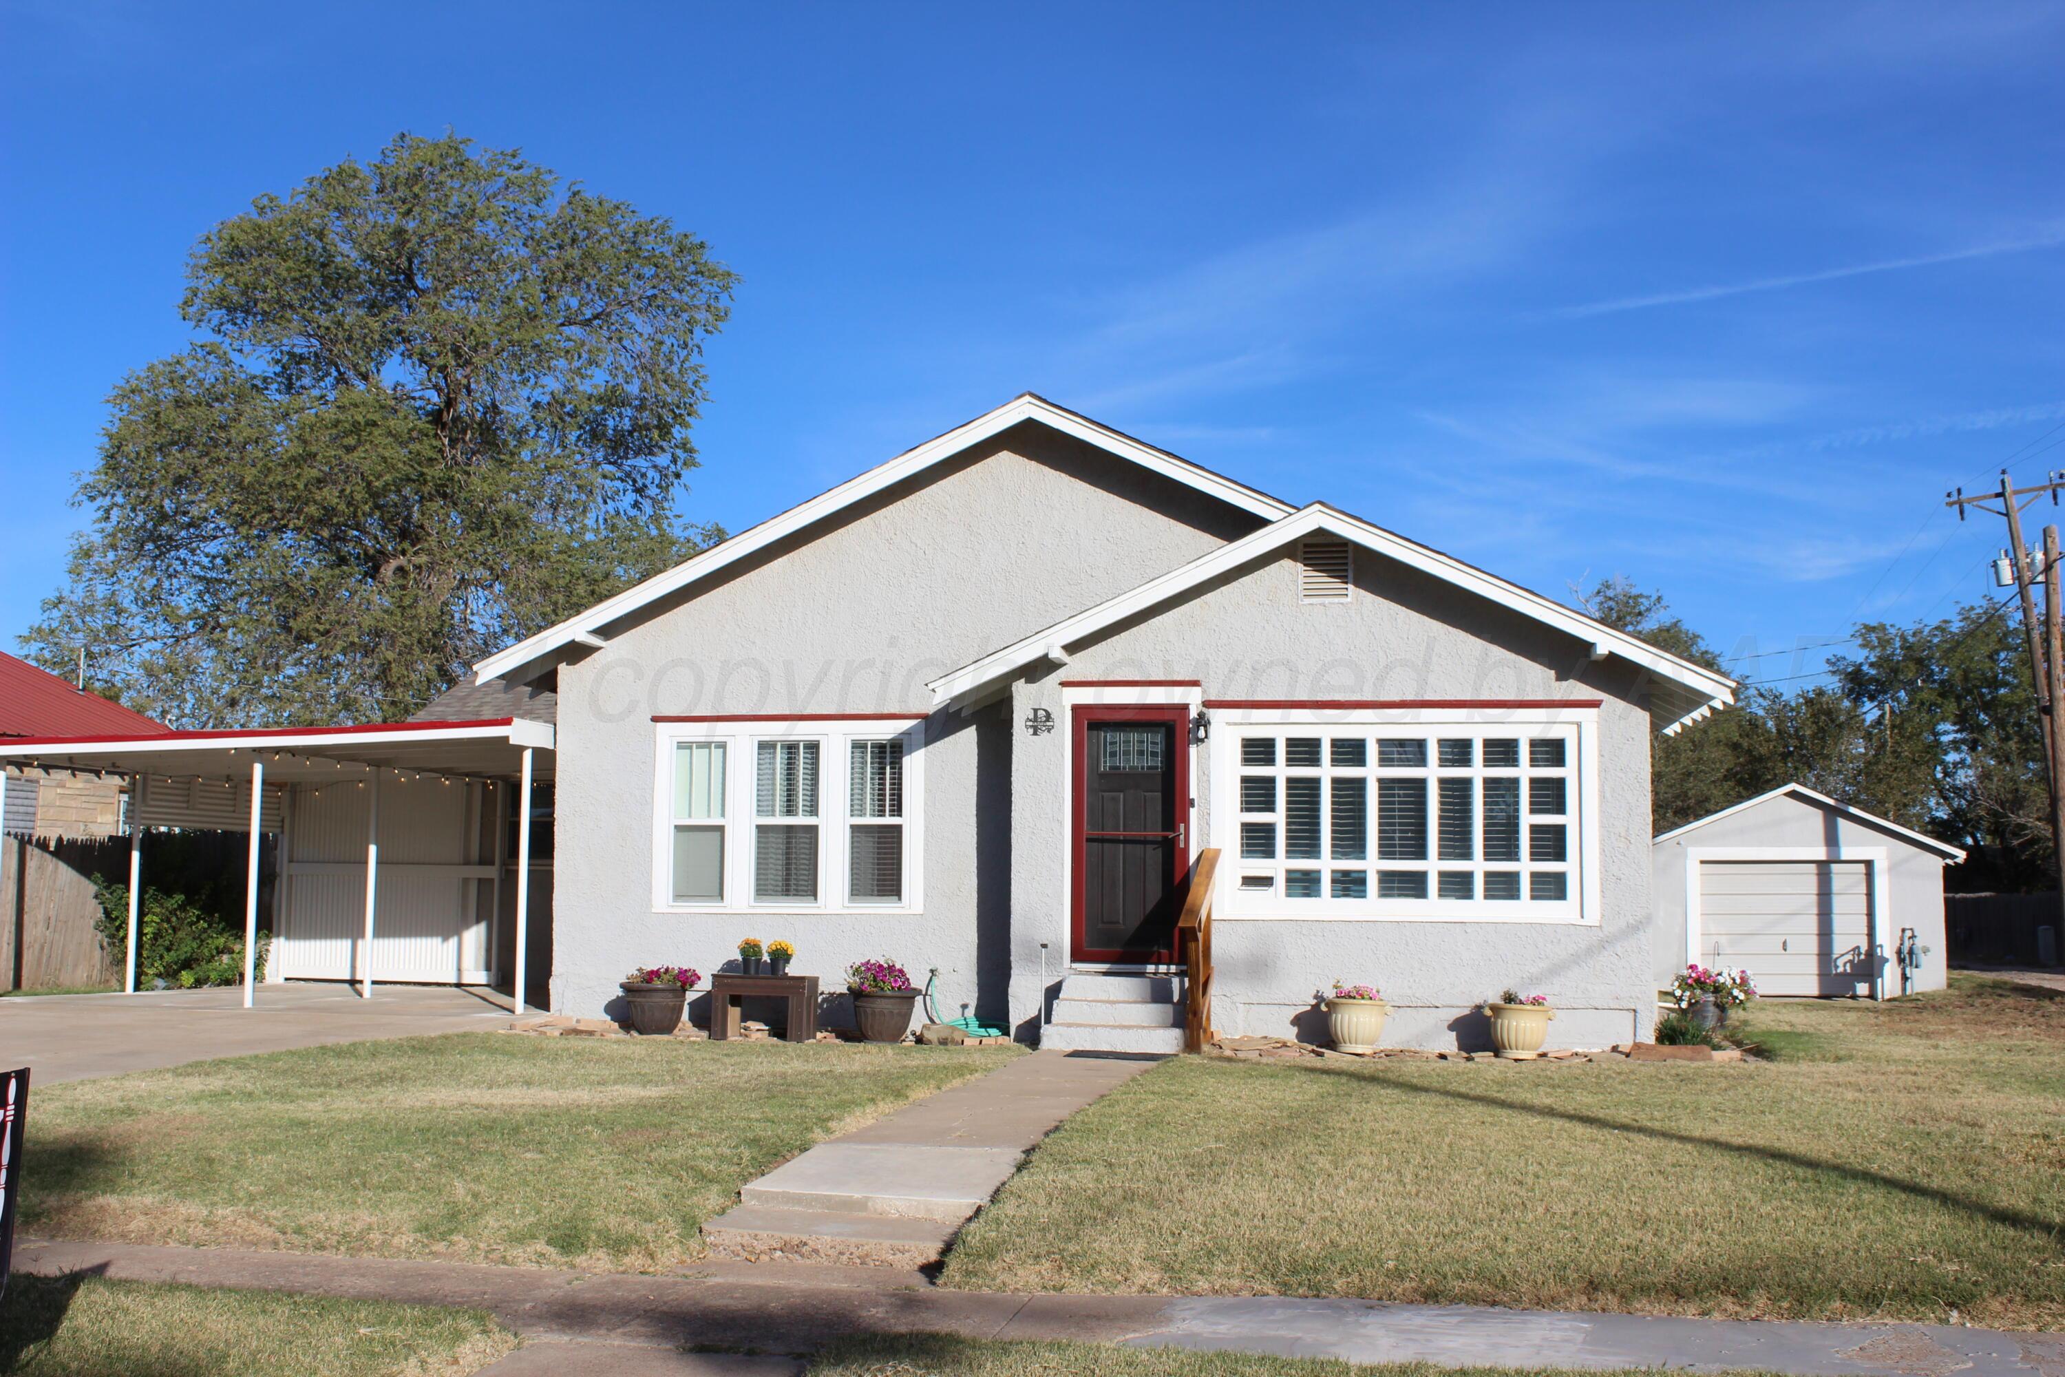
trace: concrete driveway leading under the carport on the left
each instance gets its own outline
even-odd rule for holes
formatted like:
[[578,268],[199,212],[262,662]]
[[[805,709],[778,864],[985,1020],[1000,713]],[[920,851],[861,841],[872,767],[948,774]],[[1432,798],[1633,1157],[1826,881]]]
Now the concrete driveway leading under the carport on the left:
[[242,989],[33,995],[0,999],[0,1067],[27,1065],[31,1084],[47,1086],[289,1047],[508,1024],[508,999],[450,985],[376,985],[372,999],[345,985],[260,985],[252,1010]]

